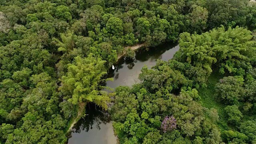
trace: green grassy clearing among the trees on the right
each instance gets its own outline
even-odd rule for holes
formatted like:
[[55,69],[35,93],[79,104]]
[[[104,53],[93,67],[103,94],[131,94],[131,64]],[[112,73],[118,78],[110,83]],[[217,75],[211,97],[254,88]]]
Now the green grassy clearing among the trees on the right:
[[226,120],[224,108],[225,104],[221,103],[218,97],[215,95],[215,85],[218,83],[223,76],[221,76],[218,72],[213,72],[208,78],[207,88],[201,88],[198,90],[198,94],[201,97],[202,106],[206,108],[215,108],[218,110],[219,121],[216,125],[220,128],[221,131],[231,130],[230,126],[228,126],[228,122]]

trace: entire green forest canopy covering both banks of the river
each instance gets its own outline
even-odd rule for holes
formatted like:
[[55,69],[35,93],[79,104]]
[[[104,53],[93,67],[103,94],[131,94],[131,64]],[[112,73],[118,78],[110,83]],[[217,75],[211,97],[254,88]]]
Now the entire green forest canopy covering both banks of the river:
[[[254,144],[255,29],[249,0],[1,0],[0,143],[62,143],[86,103],[108,109],[102,82],[134,57],[125,47],[179,40],[172,60],[116,88],[120,143]],[[213,73],[224,127],[200,95]]]

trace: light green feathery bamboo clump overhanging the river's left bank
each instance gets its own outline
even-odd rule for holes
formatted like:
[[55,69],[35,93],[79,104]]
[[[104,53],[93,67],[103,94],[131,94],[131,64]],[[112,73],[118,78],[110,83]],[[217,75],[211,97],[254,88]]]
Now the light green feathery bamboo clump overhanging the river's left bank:
[[77,56],[74,64],[68,64],[68,72],[62,76],[60,87],[68,102],[74,105],[79,102],[94,102],[104,109],[108,108],[107,102],[110,98],[106,92],[99,90],[103,88],[99,82],[108,80],[102,80],[106,74],[105,62],[89,54],[88,58]]

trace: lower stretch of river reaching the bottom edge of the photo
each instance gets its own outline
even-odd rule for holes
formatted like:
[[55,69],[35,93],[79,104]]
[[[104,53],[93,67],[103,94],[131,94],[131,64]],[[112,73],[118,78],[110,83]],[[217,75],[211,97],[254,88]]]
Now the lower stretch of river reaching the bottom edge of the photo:
[[109,113],[90,103],[86,114],[74,125],[68,144],[116,144]]

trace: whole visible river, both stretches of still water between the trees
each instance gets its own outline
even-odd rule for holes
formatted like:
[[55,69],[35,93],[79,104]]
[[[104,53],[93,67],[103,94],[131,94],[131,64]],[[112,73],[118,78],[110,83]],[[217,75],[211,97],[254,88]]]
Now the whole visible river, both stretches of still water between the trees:
[[[132,86],[137,82],[140,70],[144,65],[148,68],[156,65],[158,59],[169,60],[179,50],[177,44],[162,44],[149,50],[138,50],[134,60],[120,58],[115,65],[115,70],[110,69],[108,77],[114,81],[106,82],[106,86],[116,88],[117,86]],[[88,104],[88,111],[84,119],[80,119],[73,127],[68,139],[68,144],[116,144],[116,136],[112,129],[112,122],[108,112]]]

